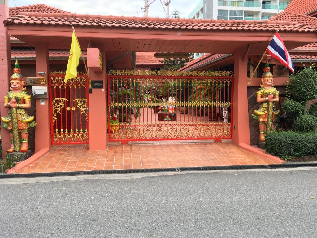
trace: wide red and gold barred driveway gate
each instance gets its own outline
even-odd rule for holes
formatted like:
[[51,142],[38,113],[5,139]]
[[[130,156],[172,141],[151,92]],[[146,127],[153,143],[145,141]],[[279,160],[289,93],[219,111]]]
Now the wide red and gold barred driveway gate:
[[232,139],[232,71],[109,74],[109,141]]

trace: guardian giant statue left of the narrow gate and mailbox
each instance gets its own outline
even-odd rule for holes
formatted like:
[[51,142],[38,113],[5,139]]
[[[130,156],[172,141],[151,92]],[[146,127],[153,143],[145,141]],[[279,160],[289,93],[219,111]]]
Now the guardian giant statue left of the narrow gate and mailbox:
[[31,96],[25,91],[25,81],[21,75],[19,63],[16,60],[13,75],[10,77],[10,92],[4,96],[4,107],[10,108],[7,116],[2,116],[3,128],[10,134],[11,147],[6,152],[22,152],[29,150],[29,127],[35,127],[34,116],[29,116],[26,108],[31,107]]

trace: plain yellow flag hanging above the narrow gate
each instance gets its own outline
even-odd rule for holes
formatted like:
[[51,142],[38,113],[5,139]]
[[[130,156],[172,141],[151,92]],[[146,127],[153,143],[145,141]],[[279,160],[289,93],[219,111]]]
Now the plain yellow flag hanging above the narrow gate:
[[76,33],[73,30],[72,44],[70,46],[70,52],[69,52],[69,58],[68,58],[64,83],[67,83],[68,79],[71,79],[77,76],[77,66],[79,64],[80,56],[81,56],[80,45],[79,45]]

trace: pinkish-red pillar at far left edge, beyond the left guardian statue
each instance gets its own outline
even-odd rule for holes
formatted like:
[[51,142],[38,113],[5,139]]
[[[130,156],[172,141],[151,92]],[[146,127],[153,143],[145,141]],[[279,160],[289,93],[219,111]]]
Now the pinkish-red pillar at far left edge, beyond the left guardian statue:
[[[10,52],[10,36],[8,30],[3,25],[3,21],[9,17],[8,1],[0,2],[0,115],[7,116],[8,110],[3,107],[4,96],[9,91],[9,78],[11,71],[11,52]],[[2,122],[1,122],[2,123]],[[5,151],[10,148],[10,137],[7,129],[1,127],[1,143],[3,156]]]

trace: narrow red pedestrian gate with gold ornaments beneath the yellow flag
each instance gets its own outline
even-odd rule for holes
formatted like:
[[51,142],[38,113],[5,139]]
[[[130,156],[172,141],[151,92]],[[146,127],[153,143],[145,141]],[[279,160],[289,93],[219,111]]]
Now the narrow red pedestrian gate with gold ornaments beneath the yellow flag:
[[49,76],[52,144],[88,144],[88,78]]

